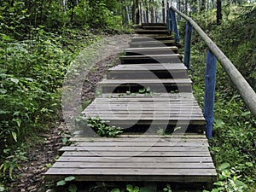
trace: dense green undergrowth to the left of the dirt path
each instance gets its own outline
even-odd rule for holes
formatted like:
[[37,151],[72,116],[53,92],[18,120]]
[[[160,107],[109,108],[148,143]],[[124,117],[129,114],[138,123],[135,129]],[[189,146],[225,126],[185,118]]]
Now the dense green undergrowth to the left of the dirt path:
[[61,86],[70,61],[99,38],[82,29],[47,32],[44,27],[23,40],[0,35],[0,187],[4,189],[4,183],[19,176],[26,148],[40,142],[40,135],[61,119]]

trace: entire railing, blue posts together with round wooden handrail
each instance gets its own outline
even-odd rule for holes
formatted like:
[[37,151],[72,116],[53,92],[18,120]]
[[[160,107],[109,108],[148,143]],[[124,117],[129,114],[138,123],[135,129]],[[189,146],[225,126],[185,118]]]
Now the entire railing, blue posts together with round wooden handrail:
[[232,62],[227,58],[226,55],[218,48],[216,44],[212,42],[212,39],[207,36],[205,32],[201,30],[194,20],[189,16],[183,15],[180,11],[171,6],[167,10],[166,22],[169,32],[174,32],[175,41],[179,43],[179,34],[177,29],[176,14],[181,15],[186,22],[186,36],[184,42],[184,65],[189,69],[190,61],[190,49],[191,49],[191,38],[193,28],[201,36],[204,42],[208,46],[207,50],[207,63],[206,63],[206,80],[205,80],[205,98],[204,98],[204,117],[207,120],[206,133],[207,138],[212,137],[212,125],[213,125],[213,108],[214,108],[214,96],[215,96],[215,82],[216,82],[216,67],[217,60],[224,67],[226,73],[228,73],[232,83],[236,86],[236,90],[240,93],[242,99],[247,104],[247,108],[253,113],[256,118],[256,94],[253,88],[243,78],[241,73],[234,67]]

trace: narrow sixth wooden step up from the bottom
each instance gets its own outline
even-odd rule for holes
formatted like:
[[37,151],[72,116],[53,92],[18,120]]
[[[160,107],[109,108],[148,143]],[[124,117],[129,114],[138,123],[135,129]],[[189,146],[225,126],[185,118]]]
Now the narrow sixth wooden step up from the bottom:
[[145,48],[128,48],[124,49],[125,55],[168,55],[177,54],[176,46],[169,47],[145,47]]

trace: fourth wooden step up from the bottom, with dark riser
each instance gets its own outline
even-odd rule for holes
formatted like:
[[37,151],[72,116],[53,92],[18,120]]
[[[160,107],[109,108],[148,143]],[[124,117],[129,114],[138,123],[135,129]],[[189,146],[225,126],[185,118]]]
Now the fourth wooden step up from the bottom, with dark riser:
[[188,79],[181,63],[119,65],[108,69],[107,79]]

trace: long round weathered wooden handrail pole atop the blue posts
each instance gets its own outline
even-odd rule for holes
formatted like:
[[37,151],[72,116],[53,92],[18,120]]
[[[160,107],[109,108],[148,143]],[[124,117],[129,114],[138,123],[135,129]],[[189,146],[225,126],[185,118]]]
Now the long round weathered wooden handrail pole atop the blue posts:
[[236,86],[236,90],[238,90],[244,102],[246,102],[247,108],[251,111],[254,118],[256,118],[256,93],[250,84],[247,83],[246,79],[241,75],[241,73],[236,69],[233,63],[229,60],[229,58],[224,55],[221,49],[218,48],[216,44],[213,43],[212,39],[207,36],[205,32],[198,26],[194,20],[192,20],[189,16],[184,15],[176,8],[171,6],[174,12],[178,15],[182,16],[185,20],[187,20],[191,26],[194,27],[195,31],[201,36],[204,42],[207,44],[208,48],[212,51],[212,54],[216,56],[219,63],[224,67],[224,70],[230,76],[232,83]]

